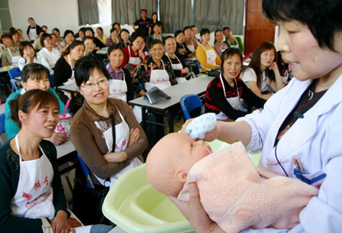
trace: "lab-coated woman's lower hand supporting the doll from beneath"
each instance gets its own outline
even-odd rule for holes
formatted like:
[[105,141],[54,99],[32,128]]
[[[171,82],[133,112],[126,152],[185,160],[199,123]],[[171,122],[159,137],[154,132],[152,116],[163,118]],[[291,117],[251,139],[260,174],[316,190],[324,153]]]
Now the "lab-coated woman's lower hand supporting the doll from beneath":
[[197,233],[200,232],[224,232],[217,223],[209,219],[202,204],[196,183],[189,184],[189,201],[180,201],[176,197],[169,199],[181,210],[189,223]]

